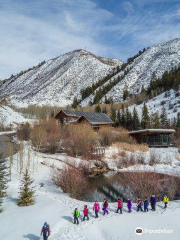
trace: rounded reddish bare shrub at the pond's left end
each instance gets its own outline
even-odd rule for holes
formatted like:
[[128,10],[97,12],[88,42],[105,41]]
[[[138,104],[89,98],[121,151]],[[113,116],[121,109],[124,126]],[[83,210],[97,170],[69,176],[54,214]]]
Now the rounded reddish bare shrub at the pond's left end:
[[62,170],[54,169],[52,180],[63,192],[70,194],[73,198],[82,199],[82,196],[89,191],[86,176],[83,171],[76,168],[65,166]]

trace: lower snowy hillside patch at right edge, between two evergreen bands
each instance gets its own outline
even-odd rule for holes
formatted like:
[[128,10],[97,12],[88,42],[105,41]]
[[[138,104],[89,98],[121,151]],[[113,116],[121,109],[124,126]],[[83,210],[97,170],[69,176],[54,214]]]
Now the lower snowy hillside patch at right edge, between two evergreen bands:
[[[162,93],[149,100],[146,105],[150,113],[158,114],[161,114],[164,106],[168,118],[173,121],[174,117],[177,117],[177,113],[180,112],[180,93],[176,94],[174,90]],[[140,105],[130,106],[131,111],[133,110],[134,106],[136,107],[138,114],[141,115],[143,103]]]

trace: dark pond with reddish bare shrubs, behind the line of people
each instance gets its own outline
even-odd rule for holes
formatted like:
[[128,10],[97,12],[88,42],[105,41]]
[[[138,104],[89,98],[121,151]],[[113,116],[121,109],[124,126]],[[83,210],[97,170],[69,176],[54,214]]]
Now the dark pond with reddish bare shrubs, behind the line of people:
[[[133,201],[139,196],[155,193],[162,199],[164,193],[173,199],[180,199],[180,179],[159,173],[109,172],[88,178],[90,191],[83,197],[85,201],[116,202],[118,198]],[[173,189],[174,188],[174,189]]]

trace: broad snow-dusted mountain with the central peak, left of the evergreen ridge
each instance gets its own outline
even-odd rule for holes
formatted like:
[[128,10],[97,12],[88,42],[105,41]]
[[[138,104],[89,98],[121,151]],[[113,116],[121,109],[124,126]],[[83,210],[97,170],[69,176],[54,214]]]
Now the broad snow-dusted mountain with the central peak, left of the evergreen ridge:
[[0,95],[12,103],[68,105],[80,90],[110,73],[122,62],[79,49],[39,64],[0,84]]

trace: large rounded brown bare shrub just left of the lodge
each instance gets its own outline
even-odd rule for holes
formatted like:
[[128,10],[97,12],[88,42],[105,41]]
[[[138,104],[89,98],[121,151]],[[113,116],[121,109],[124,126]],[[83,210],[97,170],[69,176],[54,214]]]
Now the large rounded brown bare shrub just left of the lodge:
[[42,120],[32,127],[31,141],[34,147],[55,153],[59,148],[61,125],[54,119]]

